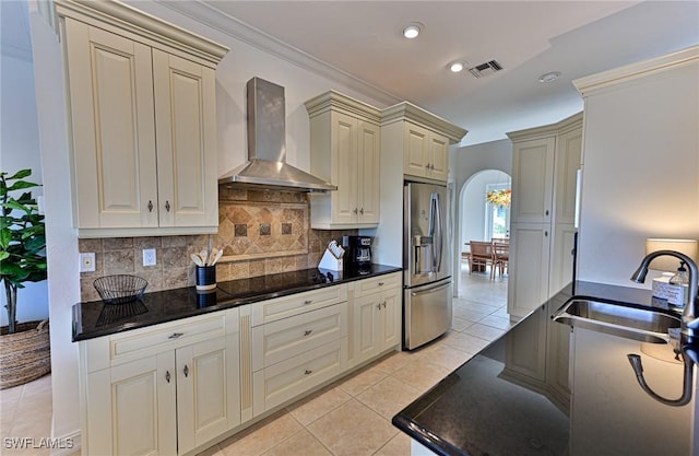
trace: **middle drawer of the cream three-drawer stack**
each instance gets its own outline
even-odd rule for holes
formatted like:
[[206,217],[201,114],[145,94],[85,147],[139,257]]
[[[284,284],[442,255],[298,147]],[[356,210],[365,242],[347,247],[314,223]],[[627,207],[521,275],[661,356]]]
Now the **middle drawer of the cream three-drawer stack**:
[[252,328],[252,371],[346,336],[346,303],[257,326]]

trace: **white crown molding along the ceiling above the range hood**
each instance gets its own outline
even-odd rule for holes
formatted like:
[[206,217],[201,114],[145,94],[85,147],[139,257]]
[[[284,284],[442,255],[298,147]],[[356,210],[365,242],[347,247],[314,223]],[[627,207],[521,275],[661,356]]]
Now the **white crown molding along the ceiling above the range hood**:
[[200,0],[155,0],[155,2],[299,68],[320,74],[333,81],[337,81],[339,83],[371,97],[372,100],[386,103],[387,105],[392,105],[401,101],[396,95],[371,85],[346,71],[335,68],[310,54],[291,46],[289,44],[284,43],[259,28],[217,10],[209,3],[204,3]]

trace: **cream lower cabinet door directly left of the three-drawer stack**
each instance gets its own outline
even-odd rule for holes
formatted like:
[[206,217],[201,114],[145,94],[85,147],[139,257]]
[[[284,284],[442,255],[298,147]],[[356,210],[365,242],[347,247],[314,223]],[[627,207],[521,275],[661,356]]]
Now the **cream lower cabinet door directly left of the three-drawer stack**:
[[240,423],[238,335],[177,349],[178,453]]

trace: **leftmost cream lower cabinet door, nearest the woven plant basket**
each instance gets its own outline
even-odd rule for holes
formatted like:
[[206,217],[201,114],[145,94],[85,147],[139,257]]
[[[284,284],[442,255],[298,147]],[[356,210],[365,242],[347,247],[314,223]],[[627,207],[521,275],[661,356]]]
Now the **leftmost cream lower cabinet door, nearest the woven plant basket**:
[[177,454],[175,353],[87,375],[84,454]]

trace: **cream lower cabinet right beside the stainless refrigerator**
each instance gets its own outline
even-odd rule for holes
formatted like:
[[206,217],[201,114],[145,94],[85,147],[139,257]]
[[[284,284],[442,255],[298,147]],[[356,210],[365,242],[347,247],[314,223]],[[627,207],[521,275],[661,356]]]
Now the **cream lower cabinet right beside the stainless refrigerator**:
[[401,274],[355,283],[353,361],[360,364],[401,342]]

